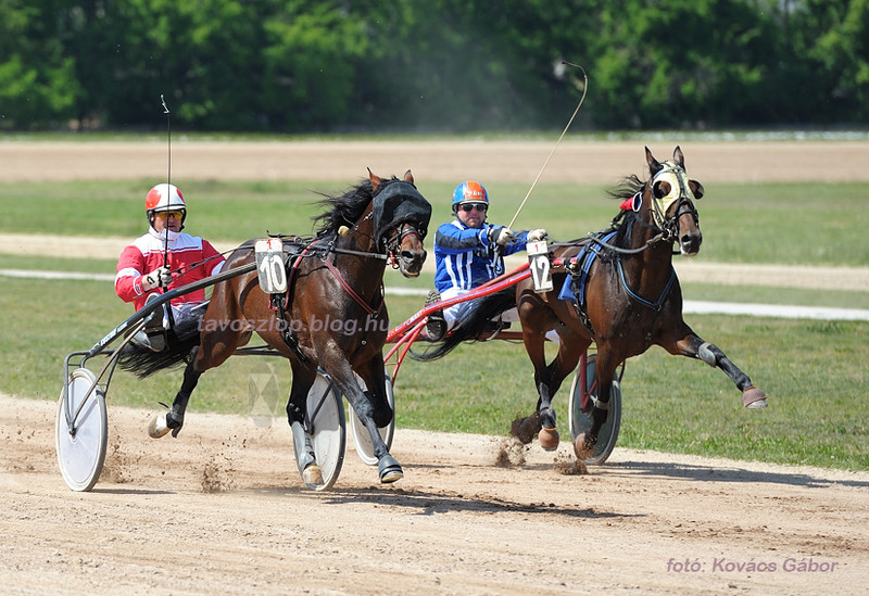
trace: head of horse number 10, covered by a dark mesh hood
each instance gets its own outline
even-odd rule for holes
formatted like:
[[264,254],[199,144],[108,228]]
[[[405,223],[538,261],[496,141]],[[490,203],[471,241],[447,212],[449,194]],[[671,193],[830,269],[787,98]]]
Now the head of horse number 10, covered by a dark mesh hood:
[[423,240],[431,219],[431,204],[416,190],[408,169],[404,179],[383,179],[368,170],[374,194],[377,246],[389,255],[404,277],[419,276],[426,262]]

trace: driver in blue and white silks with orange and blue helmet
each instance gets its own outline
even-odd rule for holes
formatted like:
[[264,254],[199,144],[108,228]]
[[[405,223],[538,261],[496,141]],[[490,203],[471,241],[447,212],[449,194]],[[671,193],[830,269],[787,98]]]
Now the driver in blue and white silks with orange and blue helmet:
[[[546,237],[546,230],[514,232],[507,227],[486,221],[489,193],[474,180],[462,182],[453,191],[455,219],[442,224],[434,234],[434,290],[426,305],[466,294],[504,272],[504,255],[524,251],[527,242]],[[426,333],[431,340],[444,337],[470,303],[459,303],[428,317]],[[513,315],[513,316],[511,316]],[[515,309],[502,320],[517,320]]]

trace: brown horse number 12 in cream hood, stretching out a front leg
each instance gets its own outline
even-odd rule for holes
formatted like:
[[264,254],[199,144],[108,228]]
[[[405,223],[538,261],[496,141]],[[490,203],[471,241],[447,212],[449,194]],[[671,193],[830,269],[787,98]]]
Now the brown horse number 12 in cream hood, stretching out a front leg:
[[[616,194],[622,204],[613,227],[590,239],[556,244],[553,256],[562,257],[566,265],[553,275],[554,290],[537,293],[529,279],[475,301],[453,332],[421,356],[437,358],[463,341],[474,341],[490,319],[518,306],[522,341],[534,366],[539,394],[534,414],[513,424],[513,433],[524,443],[539,432],[541,446],[553,449],[558,445],[552,396],[577,368],[592,341],[597,346],[599,394],[591,408],[591,429],[575,441],[581,459],[591,454],[607,420],[617,368],[652,345],[720,368],[742,391],[745,407],[767,405],[766,394],[682,318],[682,290],[672,267],[672,255],[678,254],[673,244],[685,256],[700,251],[703,236],[694,200],[703,196],[703,186],[688,178],[684,155],[678,147],[672,162],[659,163],[648,148],[645,155],[651,177],[645,182],[635,176],[625,180]],[[544,340],[553,329],[559,346],[547,365]]]

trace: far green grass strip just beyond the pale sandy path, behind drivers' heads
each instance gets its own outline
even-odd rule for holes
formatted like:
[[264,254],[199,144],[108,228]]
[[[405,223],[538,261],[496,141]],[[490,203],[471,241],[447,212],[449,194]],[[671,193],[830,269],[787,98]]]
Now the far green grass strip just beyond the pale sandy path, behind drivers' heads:
[[[348,185],[353,181],[349,181]],[[142,232],[142,188],[149,182],[9,183],[0,232],[130,237]],[[488,183],[489,219],[508,223],[525,198],[518,185]],[[335,182],[217,182],[185,185],[190,231],[241,242],[270,232],[310,233],[319,213],[316,192],[340,193]],[[420,183],[432,221],[450,218],[453,186]],[[540,185],[516,228],[544,227],[557,240],[606,227],[618,203],[601,186]],[[700,258],[732,263],[869,265],[867,183],[707,185],[697,203],[705,243]],[[50,217],[47,215],[50,214]]]

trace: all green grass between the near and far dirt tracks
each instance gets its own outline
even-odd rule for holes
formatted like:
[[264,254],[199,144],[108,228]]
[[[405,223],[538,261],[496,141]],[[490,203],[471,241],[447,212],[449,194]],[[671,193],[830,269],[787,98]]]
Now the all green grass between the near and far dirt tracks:
[[[4,189],[0,232],[135,237],[142,232],[146,182],[15,183]],[[488,185],[490,218],[508,220],[526,189]],[[240,242],[266,230],[306,233],[317,213],[310,189],[343,190],[335,183],[193,182],[189,227],[193,233]],[[436,221],[449,216],[448,185],[424,185]],[[543,226],[556,239],[603,228],[616,203],[602,187],[542,186],[545,208],[529,203],[516,227]],[[869,217],[867,185],[708,185],[698,203],[706,261],[804,265],[869,265],[862,228]],[[430,240],[427,241],[430,246]],[[79,258],[0,256],[0,268],[113,272],[114,263]],[[388,272],[388,284],[431,286]],[[73,350],[90,347],[130,314],[111,284],[0,278],[0,391],[56,398],[62,363]],[[688,300],[725,300],[869,307],[865,292],[776,288],[687,286]],[[419,297],[389,296],[392,324],[418,310]],[[619,445],[869,469],[864,400],[869,394],[865,363],[869,324],[735,316],[688,317],[695,331],[719,345],[770,396],[763,411],[741,408],[727,377],[698,362],[673,358],[659,348],[628,363],[622,382],[625,410]],[[250,411],[248,379],[277,359],[235,358],[205,375],[190,411]],[[289,388],[281,388],[286,393]],[[118,372],[110,404],[156,408],[169,402],[179,372],[146,381]],[[516,414],[530,413],[536,396],[531,366],[520,345],[492,342],[463,346],[431,364],[405,362],[396,383],[399,427],[505,434]],[[567,433],[566,389],[556,397]],[[280,408],[278,408],[280,409]]]

